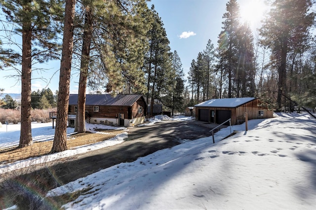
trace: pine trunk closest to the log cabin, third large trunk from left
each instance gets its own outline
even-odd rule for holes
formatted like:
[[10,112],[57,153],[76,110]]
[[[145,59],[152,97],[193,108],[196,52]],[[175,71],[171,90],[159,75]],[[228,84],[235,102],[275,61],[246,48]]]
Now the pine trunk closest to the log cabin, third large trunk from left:
[[85,9],[85,25],[87,29],[83,32],[79,90],[78,90],[78,112],[77,112],[77,132],[85,133],[85,91],[87,86],[89,60],[90,60],[90,45],[92,37],[92,16],[89,7]]

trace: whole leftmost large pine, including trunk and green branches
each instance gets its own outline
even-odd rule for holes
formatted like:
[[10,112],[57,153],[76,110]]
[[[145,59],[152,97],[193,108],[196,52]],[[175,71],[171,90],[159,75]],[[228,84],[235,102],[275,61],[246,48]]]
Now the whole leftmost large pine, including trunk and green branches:
[[[32,61],[45,62],[58,56],[62,2],[59,0],[0,0],[13,33],[22,36],[21,134],[19,147],[33,144],[31,131]],[[35,46],[32,48],[32,45]]]

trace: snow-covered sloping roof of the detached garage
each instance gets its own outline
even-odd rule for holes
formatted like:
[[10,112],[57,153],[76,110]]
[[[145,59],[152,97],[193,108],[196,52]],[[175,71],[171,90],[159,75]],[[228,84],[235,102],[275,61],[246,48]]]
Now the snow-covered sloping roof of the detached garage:
[[207,107],[237,107],[246,104],[256,98],[232,98],[232,99],[211,99],[206,102],[202,102],[195,106],[207,106]]

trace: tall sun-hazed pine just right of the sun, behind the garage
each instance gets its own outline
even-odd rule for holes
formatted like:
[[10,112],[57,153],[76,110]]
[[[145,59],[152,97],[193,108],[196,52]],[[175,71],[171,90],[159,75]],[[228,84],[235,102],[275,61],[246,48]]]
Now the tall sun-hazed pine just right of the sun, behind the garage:
[[271,49],[271,60],[278,72],[277,110],[286,90],[287,56],[298,42],[309,36],[315,14],[311,0],[273,0],[260,35],[261,43]]

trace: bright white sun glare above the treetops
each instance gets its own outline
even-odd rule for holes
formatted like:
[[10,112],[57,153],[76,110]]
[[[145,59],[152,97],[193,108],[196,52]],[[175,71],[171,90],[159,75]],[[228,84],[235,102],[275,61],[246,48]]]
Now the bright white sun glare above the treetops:
[[268,6],[264,0],[241,0],[239,5],[241,21],[253,26],[260,24],[268,12]]

